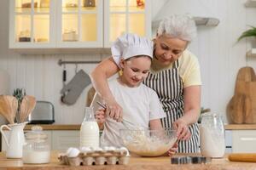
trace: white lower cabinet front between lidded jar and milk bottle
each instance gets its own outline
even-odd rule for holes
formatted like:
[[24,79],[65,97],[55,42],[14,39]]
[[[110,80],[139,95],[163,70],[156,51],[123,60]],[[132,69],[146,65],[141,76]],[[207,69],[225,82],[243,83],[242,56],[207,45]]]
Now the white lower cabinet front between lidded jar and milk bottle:
[[53,130],[52,150],[66,151],[69,147],[79,148],[79,130]]

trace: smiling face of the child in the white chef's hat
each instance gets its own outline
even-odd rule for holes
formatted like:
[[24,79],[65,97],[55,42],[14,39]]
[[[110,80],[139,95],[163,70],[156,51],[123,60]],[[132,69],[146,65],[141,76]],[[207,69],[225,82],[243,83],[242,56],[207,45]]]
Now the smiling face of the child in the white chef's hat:
[[121,82],[128,87],[137,87],[148,76],[150,65],[151,59],[144,55],[122,59],[120,63],[123,70]]

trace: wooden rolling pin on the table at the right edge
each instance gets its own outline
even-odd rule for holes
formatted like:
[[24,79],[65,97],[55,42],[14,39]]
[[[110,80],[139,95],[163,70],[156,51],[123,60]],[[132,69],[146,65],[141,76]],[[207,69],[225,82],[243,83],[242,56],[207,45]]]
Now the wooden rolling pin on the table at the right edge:
[[237,153],[229,155],[230,161],[256,162],[256,153]]

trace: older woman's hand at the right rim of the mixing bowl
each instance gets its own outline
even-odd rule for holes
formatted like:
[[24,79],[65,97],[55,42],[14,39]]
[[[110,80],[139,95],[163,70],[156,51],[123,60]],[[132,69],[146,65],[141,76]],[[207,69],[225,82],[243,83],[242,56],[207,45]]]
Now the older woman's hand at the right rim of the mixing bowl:
[[189,127],[182,118],[179,118],[177,121],[173,122],[173,128],[177,130],[178,140],[188,140],[191,137]]

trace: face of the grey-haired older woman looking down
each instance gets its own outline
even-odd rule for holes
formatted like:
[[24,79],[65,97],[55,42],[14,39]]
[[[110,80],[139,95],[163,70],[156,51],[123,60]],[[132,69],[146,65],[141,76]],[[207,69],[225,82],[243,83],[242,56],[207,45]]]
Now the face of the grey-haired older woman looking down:
[[156,37],[154,43],[154,56],[162,65],[176,61],[188,45],[187,41],[166,35]]

